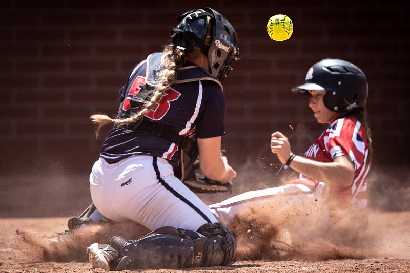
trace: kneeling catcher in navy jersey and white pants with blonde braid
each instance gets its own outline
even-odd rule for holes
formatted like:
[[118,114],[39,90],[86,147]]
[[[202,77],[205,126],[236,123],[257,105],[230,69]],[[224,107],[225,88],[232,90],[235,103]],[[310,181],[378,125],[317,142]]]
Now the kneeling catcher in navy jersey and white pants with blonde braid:
[[93,268],[188,268],[226,265],[234,258],[233,234],[181,180],[198,180],[192,172],[198,155],[207,177],[199,182],[211,190],[236,176],[221,156],[220,140],[221,82],[238,58],[238,37],[211,8],[191,10],[178,21],[172,44],[131,70],[119,91],[117,118],[91,117],[97,133],[105,124],[114,127],[90,174],[97,210],[90,207],[89,219],[100,213],[154,230],[138,240],[114,236],[109,245],[92,244]]

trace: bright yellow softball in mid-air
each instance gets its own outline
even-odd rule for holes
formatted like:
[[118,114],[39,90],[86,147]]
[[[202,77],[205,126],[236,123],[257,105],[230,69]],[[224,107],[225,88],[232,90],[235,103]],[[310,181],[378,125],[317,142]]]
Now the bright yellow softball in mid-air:
[[283,14],[272,16],[267,25],[269,37],[275,41],[284,41],[291,37],[293,24],[291,18]]

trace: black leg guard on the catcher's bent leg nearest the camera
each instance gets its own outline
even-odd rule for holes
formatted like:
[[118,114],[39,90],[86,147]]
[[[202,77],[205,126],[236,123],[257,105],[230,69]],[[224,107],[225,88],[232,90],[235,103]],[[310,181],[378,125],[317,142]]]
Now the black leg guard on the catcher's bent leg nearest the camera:
[[190,268],[229,264],[236,252],[234,235],[222,224],[201,226],[199,237],[191,230],[161,227],[129,241],[120,249],[129,268]]

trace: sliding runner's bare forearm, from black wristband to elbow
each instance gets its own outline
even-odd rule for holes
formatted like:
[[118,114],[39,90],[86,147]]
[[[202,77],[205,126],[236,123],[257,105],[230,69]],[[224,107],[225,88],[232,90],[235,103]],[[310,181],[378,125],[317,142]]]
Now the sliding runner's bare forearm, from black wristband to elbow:
[[296,156],[290,164],[293,170],[329,185],[349,186],[354,172],[340,162],[319,162]]

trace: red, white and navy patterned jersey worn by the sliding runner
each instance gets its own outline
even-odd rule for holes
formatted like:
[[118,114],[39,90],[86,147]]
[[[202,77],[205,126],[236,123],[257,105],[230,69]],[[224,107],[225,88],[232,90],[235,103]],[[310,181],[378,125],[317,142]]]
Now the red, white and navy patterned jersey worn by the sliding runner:
[[[370,169],[367,164],[368,143],[366,131],[354,117],[343,117],[332,122],[310,146],[304,157],[332,162],[336,157],[348,156],[355,165],[354,181],[347,187],[335,186],[329,188],[329,200],[339,206],[353,206],[362,209],[367,206],[366,177]],[[319,181],[315,181],[300,174],[299,183],[314,188]],[[293,181],[295,182],[295,181]]]

